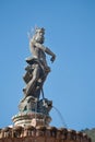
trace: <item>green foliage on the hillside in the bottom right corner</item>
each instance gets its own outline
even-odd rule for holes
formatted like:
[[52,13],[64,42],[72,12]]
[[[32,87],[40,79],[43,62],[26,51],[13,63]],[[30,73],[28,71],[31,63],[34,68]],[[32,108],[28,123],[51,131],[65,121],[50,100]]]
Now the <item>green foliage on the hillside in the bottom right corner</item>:
[[86,133],[91,139],[92,139],[92,142],[95,142],[95,128],[93,129],[85,129],[85,130],[82,130],[82,132]]

